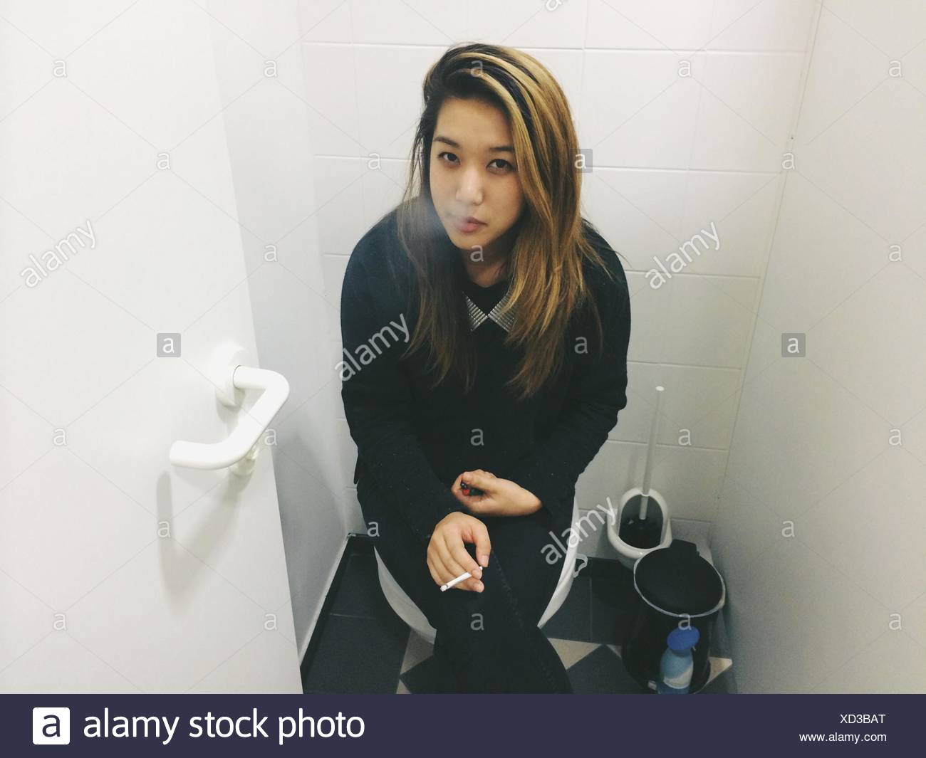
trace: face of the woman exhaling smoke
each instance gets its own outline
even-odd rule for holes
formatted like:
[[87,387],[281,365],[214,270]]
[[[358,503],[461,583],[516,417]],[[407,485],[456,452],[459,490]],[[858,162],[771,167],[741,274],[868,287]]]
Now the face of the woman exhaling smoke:
[[[507,116],[497,107],[457,97],[441,106],[431,143],[431,196],[461,250],[479,245],[486,258],[507,252],[492,243],[515,225],[524,206],[511,142]],[[467,217],[482,223],[466,224]]]

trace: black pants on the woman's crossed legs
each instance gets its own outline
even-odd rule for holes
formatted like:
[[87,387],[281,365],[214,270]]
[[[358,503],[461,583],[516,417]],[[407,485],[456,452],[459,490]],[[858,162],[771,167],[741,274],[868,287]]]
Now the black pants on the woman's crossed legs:
[[[570,517],[556,524],[543,508],[530,516],[476,516],[492,541],[484,589],[442,592],[428,569],[427,545],[367,479],[357,481],[357,500],[371,532],[375,523],[382,562],[437,630],[442,691],[571,693],[565,667],[537,627],[563,570],[563,552],[549,532],[565,542]],[[466,548],[475,557],[474,545]]]

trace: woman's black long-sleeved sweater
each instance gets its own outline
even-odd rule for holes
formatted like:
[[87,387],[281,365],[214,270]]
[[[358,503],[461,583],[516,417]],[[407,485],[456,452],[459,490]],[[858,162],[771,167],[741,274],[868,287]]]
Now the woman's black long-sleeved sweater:
[[[585,264],[605,352],[599,360],[587,308],[576,311],[556,382],[523,402],[504,386],[518,355],[503,344],[506,331],[493,312],[509,280],[482,288],[459,262],[460,297],[470,298],[470,327],[478,324],[469,332],[478,352],[475,384],[464,394],[462,380],[450,374],[432,390],[426,349],[399,360],[414,334],[418,301],[414,268],[396,236],[395,210],[357,242],[344,272],[343,363],[337,367],[344,415],[357,443],[354,481],[369,476],[419,540],[429,541],[447,514],[469,513],[450,487],[463,471],[475,468],[517,482],[540,499],[557,524],[563,518],[568,523],[576,480],[627,405],[627,281],[607,242],[589,227],[586,234],[614,275],[608,280]],[[505,318],[499,321],[504,324]],[[582,337],[584,351],[574,347]]]

